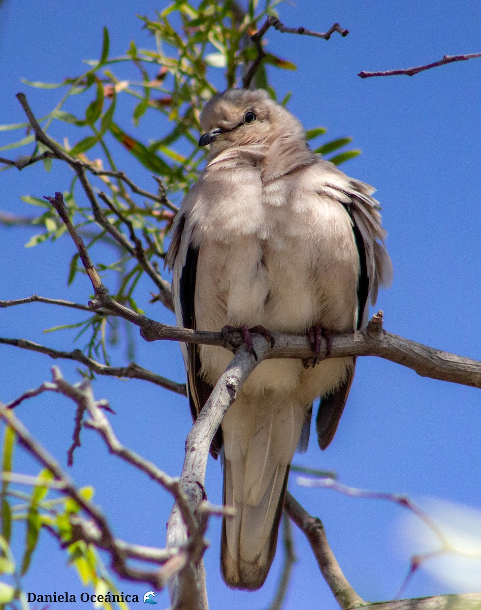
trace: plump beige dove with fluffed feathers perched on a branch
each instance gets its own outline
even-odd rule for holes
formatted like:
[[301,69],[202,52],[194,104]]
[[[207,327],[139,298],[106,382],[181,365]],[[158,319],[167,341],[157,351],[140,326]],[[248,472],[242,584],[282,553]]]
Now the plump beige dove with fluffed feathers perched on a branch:
[[[351,388],[355,359],[319,362],[321,337],[367,322],[368,300],[391,281],[374,189],[349,178],[307,145],[301,123],[263,90],[231,89],[201,114],[207,166],[174,221],[173,268],[179,326],[219,332],[308,334],[315,366],[261,362],[213,442],[224,451],[221,567],[226,583],[257,589],[276,550],[290,462],[316,431],[331,442]],[[250,343],[252,345],[252,343]],[[194,418],[232,353],[182,345]]]

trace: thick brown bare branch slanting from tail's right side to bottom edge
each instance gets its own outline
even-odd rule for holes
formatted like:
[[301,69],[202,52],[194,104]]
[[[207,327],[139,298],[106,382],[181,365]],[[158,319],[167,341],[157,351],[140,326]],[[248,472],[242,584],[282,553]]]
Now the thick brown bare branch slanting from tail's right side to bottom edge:
[[284,510],[307,537],[322,576],[341,608],[347,610],[364,606],[366,602],[355,592],[344,576],[327,542],[321,520],[308,514],[289,492],[285,496]]

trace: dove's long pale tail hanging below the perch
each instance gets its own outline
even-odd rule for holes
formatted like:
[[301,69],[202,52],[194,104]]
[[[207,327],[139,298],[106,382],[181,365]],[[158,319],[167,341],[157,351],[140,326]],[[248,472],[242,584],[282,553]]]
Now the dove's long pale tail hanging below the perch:
[[[272,398],[272,397],[271,397]],[[289,466],[301,436],[305,409],[263,395],[240,397],[224,417],[224,517],[221,567],[236,589],[258,589],[276,553]]]

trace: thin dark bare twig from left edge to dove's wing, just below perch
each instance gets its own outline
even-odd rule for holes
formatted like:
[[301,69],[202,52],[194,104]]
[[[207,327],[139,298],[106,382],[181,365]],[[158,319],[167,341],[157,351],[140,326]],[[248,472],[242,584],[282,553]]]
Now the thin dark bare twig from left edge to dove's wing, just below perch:
[[101,362],[97,362],[96,360],[89,358],[88,356],[85,356],[85,354],[80,350],[59,351],[46,347],[45,345],[39,345],[38,343],[28,341],[27,339],[7,339],[6,337],[0,337],[0,344],[1,343],[4,345],[13,345],[23,350],[37,351],[40,354],[46,354],[46,356],[50,356],[51,358],[55,359],[62,358],[65,360],[74,360],[85,365],[91,371],[97,373],[97,375],[107,375],[110,377],[119,378],[126,377],[128,379],[143,379],[143,381],[150,381],[156,386],[165,387],[167,390],[172,390],[172,392],[176,392],[182,396],[187,396],[185,384],[177,383],[176,381],[167,379],[162,375],[157,375],[157,373],[148,370],[148,368],[140,367],[135,362],[130,362],[130,364],[126,367],[109,367],[105,364],[101,364]]

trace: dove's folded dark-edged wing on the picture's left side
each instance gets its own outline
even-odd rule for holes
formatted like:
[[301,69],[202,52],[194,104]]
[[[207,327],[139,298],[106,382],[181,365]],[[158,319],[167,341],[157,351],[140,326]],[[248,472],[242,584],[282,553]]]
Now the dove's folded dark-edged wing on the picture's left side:
[[[187,207],[187,206],[186,206]],[[165,264],[173,270],[172,292],[178,326],[196,328],[195,289],[199,247],[191,243],[192,228],[185,221],[185,212],[177,214]],[[201,377],[201,361],[195,343],[180,343],[185,370],[187,393],[192,418],[195,421],[207,402],[213,387]],[[221,429],[216,432],[210,453],[217,458],[222,447]]]

